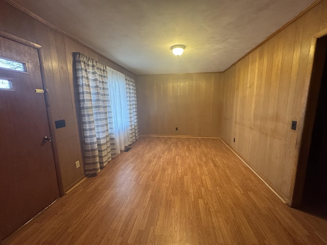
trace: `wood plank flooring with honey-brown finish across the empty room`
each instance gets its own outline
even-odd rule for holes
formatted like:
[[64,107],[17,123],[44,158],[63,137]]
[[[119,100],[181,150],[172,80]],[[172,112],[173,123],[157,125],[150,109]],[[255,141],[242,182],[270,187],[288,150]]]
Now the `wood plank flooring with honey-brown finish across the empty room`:
[[139,137],[8,244],[327,244],[220,139]]

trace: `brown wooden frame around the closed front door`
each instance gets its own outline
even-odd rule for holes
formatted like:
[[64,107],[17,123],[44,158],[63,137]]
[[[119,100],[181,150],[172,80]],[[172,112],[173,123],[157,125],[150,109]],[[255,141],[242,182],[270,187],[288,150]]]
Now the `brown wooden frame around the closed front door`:
[[[0,30],[0,36],[4,37],[4,38],[7,38],[9,40],[15,41],[17,43],[24,44],[26,46],[35,48],[37,50],[39,63],[40,63],[40,70],[41,70],[42,86],[44,88],[45,63],[44,63],[44,58],[43,58],[42,46],[37,44],[37,43],[28,41],[28,40],[26,40],[24,38],[15,36],[13,34],[10,34],[8,32],[2,31],[2,30]],[[53,118],[52,118],[51,114],[48,111],[48,107],[46,107],[45,109],[46,109],[46,116],[48,117],[48,127],[49,127],[49,130],[50,130],[50,134],[52,136],[52,139],[55,140],[55,134],[53,132],[53,129],[50,127],[50,123],[49,123],[50,121],[53,121],[52,120]],[[56,176],[57,176],[57,182],[58,182],[58,188],[59,188],[59,195],[60,195],[60,197],[62,197],[65,194],[65,192],[64,192],[63,184],[62,184],[62,177],[61,177],[61,170],[60,170],[60,165],[59,165],[58,151],[57,151],[56,147],[54,147],[53,142],[52,142],[51,145],[52,145],[52,152],[53,152],[55,168],[56,168]]]

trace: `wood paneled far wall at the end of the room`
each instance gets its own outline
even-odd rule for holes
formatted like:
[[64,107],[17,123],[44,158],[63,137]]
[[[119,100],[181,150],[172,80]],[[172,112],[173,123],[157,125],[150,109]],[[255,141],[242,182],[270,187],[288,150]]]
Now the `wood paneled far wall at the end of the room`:
[[219,136],[220,73],[137,76],[135,83],[140,135]]

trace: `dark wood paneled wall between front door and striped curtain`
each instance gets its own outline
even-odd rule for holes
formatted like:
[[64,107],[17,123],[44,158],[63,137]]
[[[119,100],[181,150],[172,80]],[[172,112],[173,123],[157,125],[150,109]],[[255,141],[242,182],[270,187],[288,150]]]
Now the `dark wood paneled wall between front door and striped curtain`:
[[[48,109],[55,159],[59,162],[64,190],[84,178],[82,142],[78,127],[78,97],[74,93],[73,52],[102,62],[134,78],[128,70],[53,30],[40,21],[0,0],[0,30],[40,44],[44,60],[43,85],[49,89]],[[66,127],[56,129],[55,120],[65,119]],[[81,167],[76,168],[75,161]]]

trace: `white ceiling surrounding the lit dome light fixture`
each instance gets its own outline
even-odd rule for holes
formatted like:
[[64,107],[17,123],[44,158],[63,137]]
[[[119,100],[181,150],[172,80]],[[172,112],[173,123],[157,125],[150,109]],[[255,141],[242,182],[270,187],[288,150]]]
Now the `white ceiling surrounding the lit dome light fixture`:
[[12,2],[145,75],[223,71],[316,0]]

